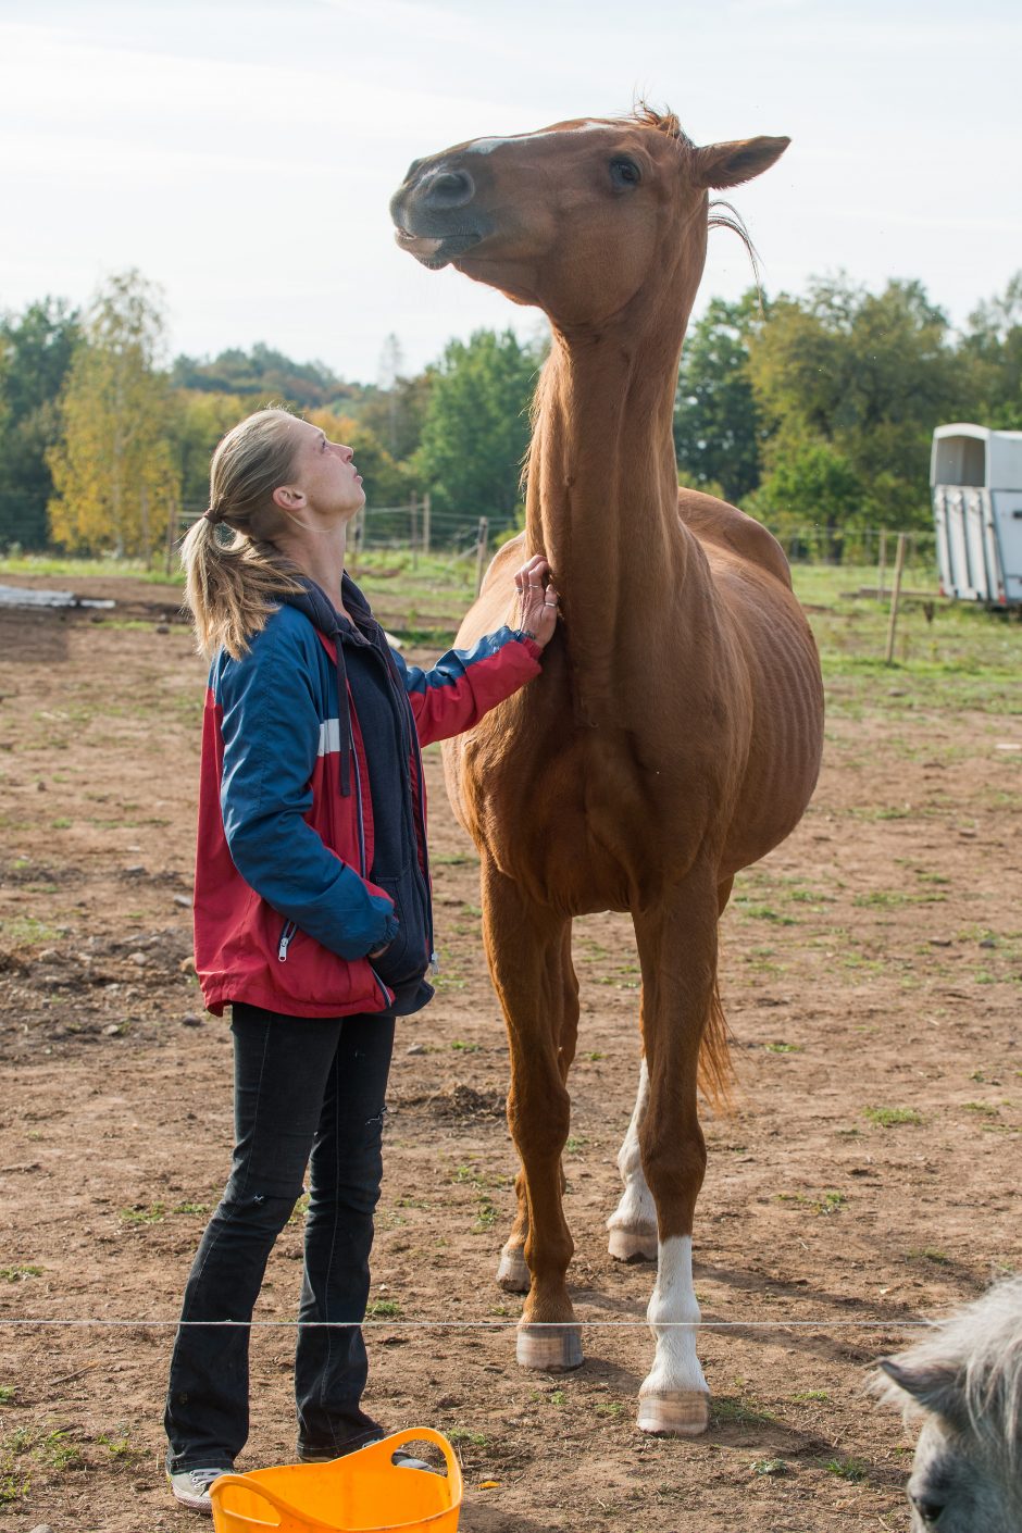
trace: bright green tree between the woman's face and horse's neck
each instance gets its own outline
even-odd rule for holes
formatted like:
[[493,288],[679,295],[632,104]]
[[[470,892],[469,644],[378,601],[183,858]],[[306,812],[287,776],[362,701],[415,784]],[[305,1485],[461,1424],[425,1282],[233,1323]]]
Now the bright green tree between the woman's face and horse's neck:
[[415,471],[440,512],[513,520],[539,348],[507,330],[452,340],[432,382]]

